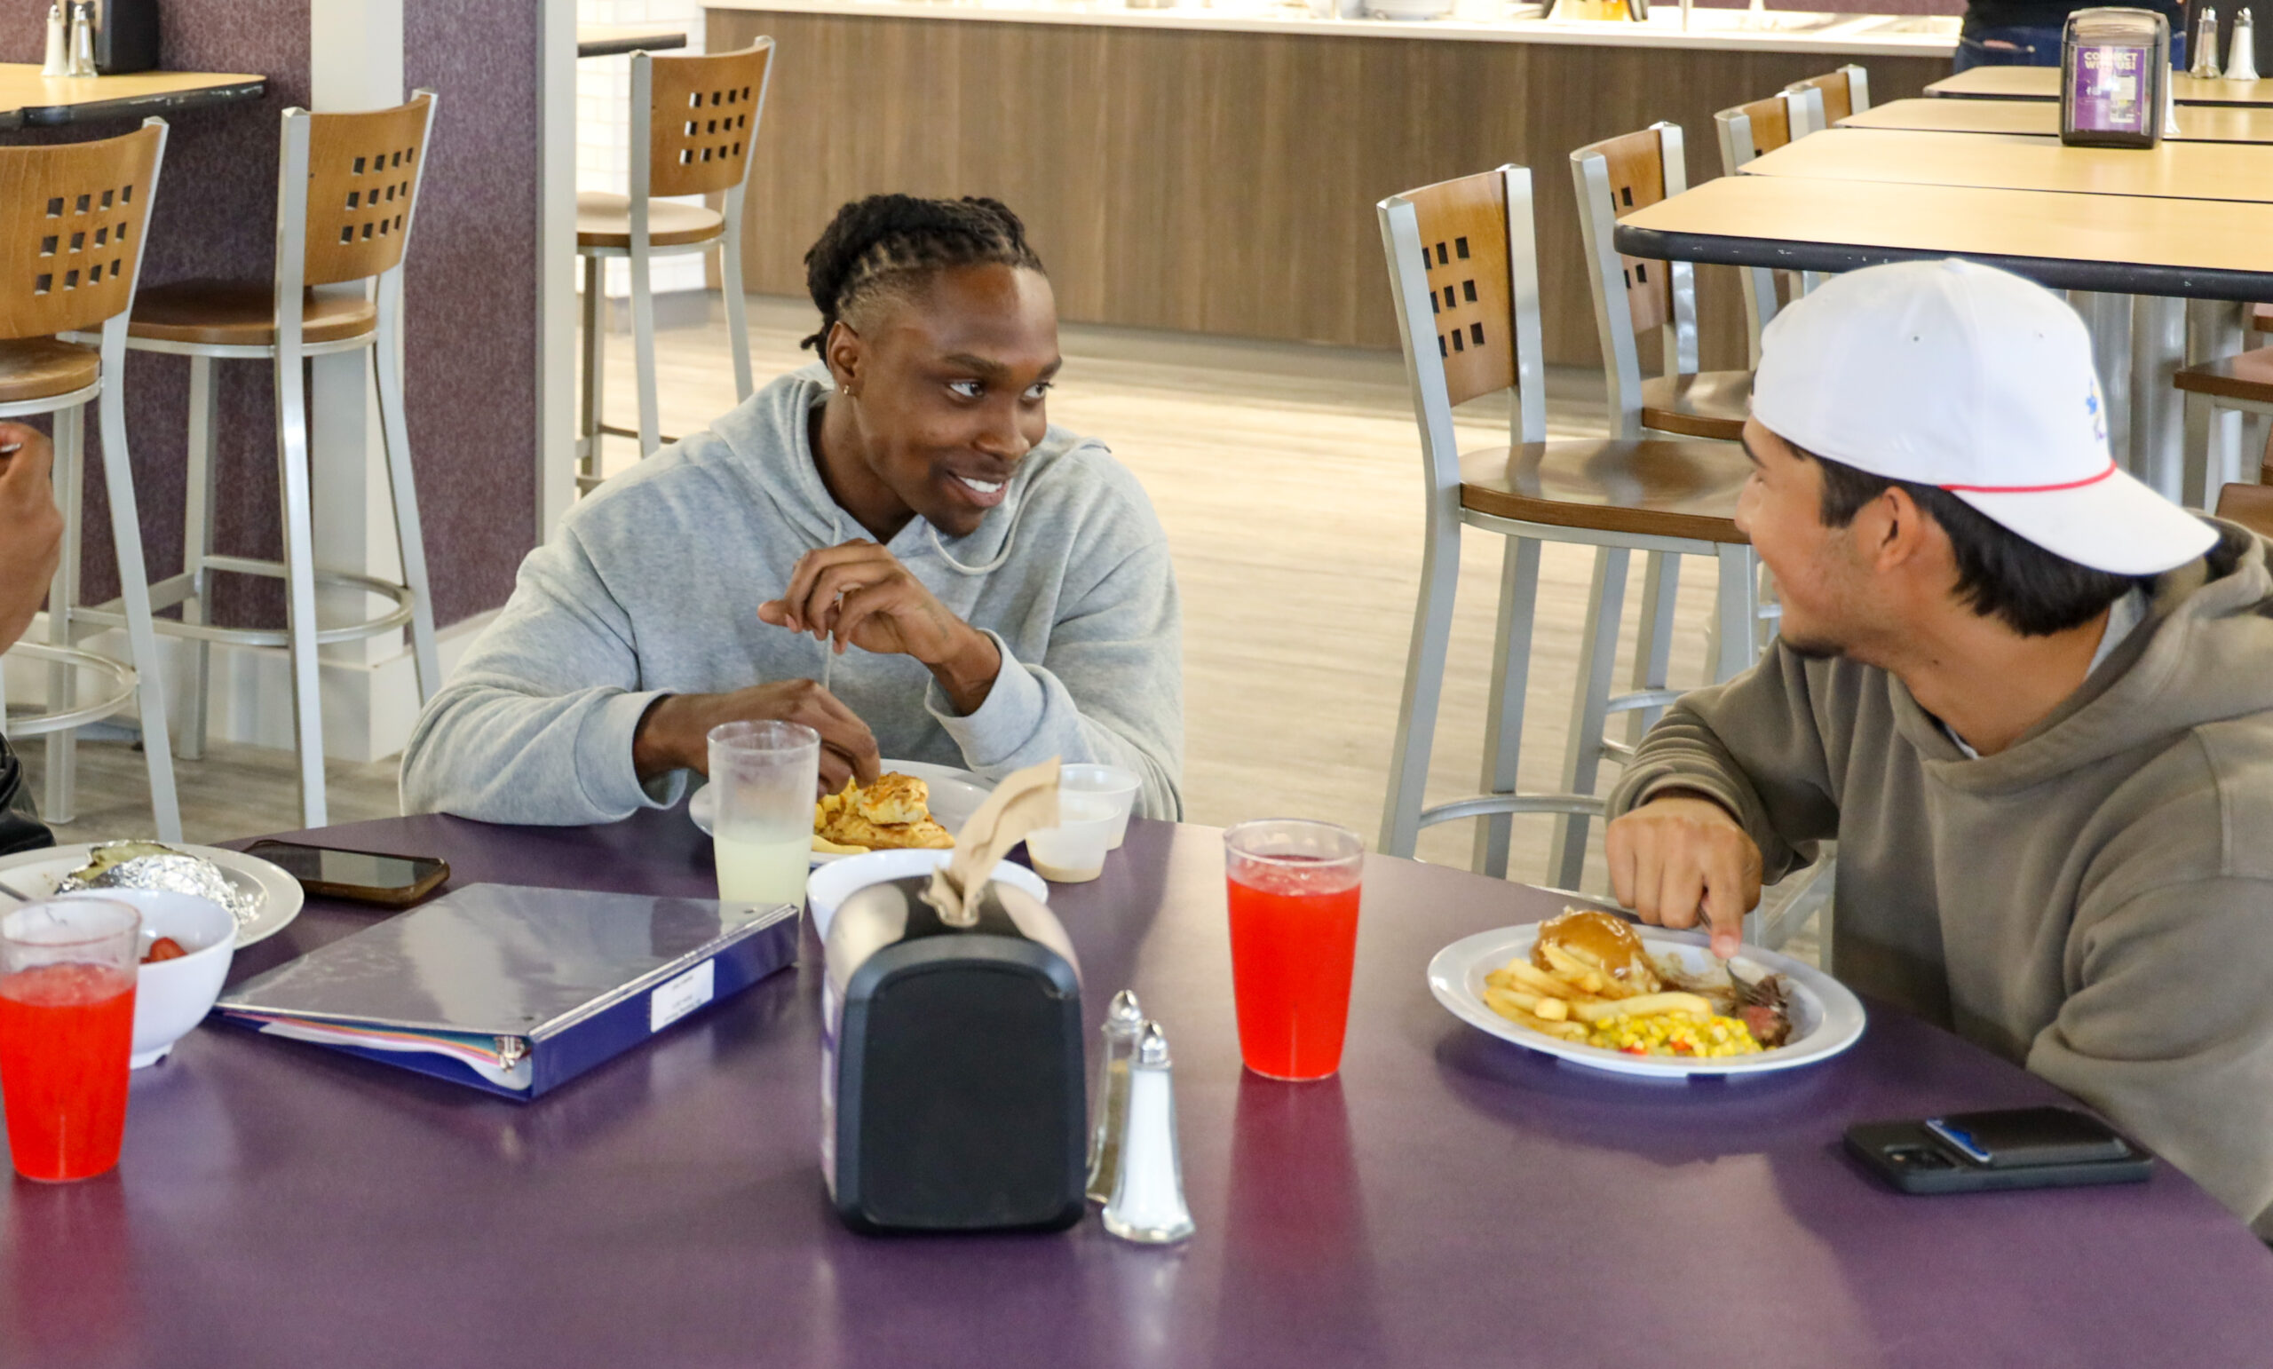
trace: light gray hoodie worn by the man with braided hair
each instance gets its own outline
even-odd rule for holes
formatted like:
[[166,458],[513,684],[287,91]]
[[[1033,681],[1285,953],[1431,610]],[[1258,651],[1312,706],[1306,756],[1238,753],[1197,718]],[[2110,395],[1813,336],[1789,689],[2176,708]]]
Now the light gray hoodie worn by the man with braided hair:
[[677,803],[684,771],[643,787],[632,769],[648,705],[802,678],[859,714],[889,760],[989,778],[1052,755],[1109,762],[1143,775],[1139,812],[1180,816],[1168,541],[1143,487],[1096,441],[1050,428],[971,537],[914,518],[886,544],[1002,648],[971,716],[911,657],[839,657],[757,619],[800,555],[866,537],[814,466],[807,418],[825,396],[818,366],[782,375],[582,500],[418,716],[402,812],[607,823]]

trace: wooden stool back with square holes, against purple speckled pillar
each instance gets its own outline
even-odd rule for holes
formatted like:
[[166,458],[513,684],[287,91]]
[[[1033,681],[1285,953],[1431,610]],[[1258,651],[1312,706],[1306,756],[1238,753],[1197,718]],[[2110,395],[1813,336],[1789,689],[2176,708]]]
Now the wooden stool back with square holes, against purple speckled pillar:
[[368,280],[402,262],[434,130],[434,91],[357,114],[284,111],[286,161],[305,123],[307,250],[300,284]]

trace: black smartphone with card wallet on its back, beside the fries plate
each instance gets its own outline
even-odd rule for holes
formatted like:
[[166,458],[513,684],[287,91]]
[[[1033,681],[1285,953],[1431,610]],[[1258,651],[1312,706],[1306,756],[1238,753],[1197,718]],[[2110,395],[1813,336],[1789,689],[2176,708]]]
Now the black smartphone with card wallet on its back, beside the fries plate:
[[1848,1128],[1846,1146],[1905,1194],[2146,1183],[2155,1171],[2141,1146],[2073,1107],[1862,1121]]

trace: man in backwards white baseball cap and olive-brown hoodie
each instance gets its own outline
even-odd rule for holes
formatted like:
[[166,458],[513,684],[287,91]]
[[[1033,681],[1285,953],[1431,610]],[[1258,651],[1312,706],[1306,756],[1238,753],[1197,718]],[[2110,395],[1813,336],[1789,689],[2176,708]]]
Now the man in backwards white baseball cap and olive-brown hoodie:
[[1714,928],[1839,841],[1834,973],[2107,1112],[2273,1235],[2273,575],[2114,466],[2082,321],[1971,262],[1762,339],[1737,523],[1759,666],[1612,796],[1643,919]]

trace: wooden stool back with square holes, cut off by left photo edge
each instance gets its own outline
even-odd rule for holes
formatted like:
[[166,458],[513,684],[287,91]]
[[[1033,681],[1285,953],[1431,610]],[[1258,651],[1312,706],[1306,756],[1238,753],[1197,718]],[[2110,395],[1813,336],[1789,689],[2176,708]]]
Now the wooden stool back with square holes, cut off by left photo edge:
[[134,307],[166,121],[95,143],[0,148],[0,339],[91,330]]

